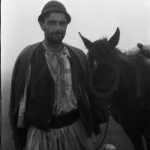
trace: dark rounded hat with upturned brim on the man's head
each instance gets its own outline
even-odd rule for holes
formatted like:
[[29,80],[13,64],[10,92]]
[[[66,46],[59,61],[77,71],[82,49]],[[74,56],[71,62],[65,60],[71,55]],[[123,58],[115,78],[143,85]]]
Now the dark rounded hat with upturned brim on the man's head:
[[58,2],[58,1],[49,1],[42,9],[41,14],[38,17],[38,21],[40,21],[43,17],[44,14],[49,13],[49,12],[62,12],[66,15],[67,18],[67,22],[70,23],[71,22],[71,17],[68,14],[65,6]]

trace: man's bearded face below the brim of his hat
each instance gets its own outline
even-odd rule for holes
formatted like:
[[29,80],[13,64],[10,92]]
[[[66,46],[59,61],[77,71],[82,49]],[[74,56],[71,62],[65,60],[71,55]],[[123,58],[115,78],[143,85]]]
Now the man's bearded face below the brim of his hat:
[[62,42],[66,33],[66,16],[63,13],[52,12],[47,18],[45,18],[41,27],[48,42],[59,44]]

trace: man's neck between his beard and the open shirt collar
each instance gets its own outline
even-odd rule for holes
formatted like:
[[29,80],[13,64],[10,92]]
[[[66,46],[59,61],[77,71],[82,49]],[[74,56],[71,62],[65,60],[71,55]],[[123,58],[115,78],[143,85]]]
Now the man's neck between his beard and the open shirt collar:
[[61,51],[63,44],[61,43],[50,43],[47,41],[47,39],[44,39],[44,44],[46,45],[46,47],[48,47],[48,49],[53,52],[53,53],[57,53],[59,51]]

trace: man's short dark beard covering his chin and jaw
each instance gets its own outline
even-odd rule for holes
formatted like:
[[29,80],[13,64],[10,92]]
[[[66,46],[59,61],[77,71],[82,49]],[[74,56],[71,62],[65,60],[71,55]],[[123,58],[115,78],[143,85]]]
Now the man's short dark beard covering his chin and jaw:
[[65,32],[60,32],[60,31],[53,32],[51,34],[45,33],[45,37],[46,37],[47,41],[49,43],[53,43],[53,44],[60,44],[62,42],[64,36],[65,36]]

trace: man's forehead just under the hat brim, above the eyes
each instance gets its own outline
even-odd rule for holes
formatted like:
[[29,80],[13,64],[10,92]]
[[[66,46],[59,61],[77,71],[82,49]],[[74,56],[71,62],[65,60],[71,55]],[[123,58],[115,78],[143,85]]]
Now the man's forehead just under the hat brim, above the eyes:
[[51,12],[48,17],[45,18],[45,21],[67,21],[64,13],[61,12]]

